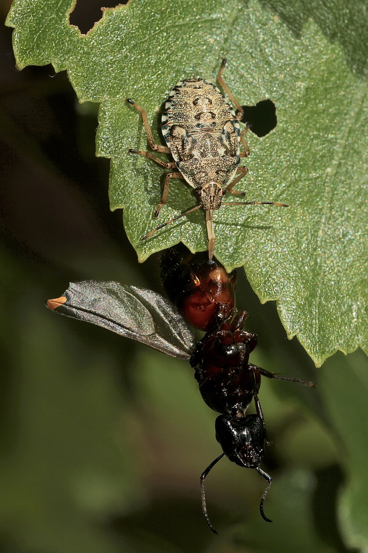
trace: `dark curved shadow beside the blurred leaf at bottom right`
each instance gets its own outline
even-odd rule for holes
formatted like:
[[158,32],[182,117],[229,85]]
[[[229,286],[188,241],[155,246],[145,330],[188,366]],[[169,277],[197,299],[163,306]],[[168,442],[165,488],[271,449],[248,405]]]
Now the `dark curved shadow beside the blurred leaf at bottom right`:
[[337,553],[358,553],[344,544],[338,528],[336,505],[345,477],[339,465],[330,465],[316,471],[316,489],[312,498],[314,528],[319,538]]

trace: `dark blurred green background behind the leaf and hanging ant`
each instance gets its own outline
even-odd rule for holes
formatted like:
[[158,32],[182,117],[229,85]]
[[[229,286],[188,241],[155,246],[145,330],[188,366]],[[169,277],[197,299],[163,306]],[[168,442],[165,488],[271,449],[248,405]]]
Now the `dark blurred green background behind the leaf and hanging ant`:
[[[78,0],[71,22],[87,32],[102,5],[114,2]],[[0,3],[3,20],[9,7]],[[274,477],[264,509],[277,522],[260,518],[262,478],[223,460],[206,482],[216,538],[199,491],[220,454],[216,414],[189,363],[44,307],[71,280],[161,291],[158,255],[138,264],[122,212],[109,210],[109,160],[94,155],[98,106],[79,105],[50,65],[17,71],[11,39],[1,26],[0,550],[346,551],[334,509],[339,445],[318,392],[262,384],[273,440],[263,468]],[[259,334],[253,362],[316,378],[240,269],[237,302]]]

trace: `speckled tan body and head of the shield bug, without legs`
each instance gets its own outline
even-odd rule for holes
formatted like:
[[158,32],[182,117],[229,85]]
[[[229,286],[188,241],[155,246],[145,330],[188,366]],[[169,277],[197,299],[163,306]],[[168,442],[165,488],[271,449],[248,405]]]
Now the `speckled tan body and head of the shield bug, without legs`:
[[[226,187],[240,164],[238,119],[220,90],[204,79],[185,79],[170,92],[162,116],[162,133],[177,168],[194,189],[207,182]],[[222,190],[215,186],[205,210],[221,206]]]

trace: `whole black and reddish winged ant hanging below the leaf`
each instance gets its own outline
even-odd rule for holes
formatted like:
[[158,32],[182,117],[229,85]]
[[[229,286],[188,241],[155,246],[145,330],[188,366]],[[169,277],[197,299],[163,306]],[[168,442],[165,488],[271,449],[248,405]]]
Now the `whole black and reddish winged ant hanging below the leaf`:
[[[242,330],[248,316],[246,311],[234,315],[236,270],[227,274],[220,263],[208,259],[206,252],[191,254],[179,244],[162,255],[161,276],[163,288],[172,301],[136,286],[86,280],[71,283],[60,298],[47,300],[46,305],[62,315],[103,326],[170,356],[188,359],[202,398],[221,414],[215,430],[223,452],[200,478],[207,525],[217,534],[207,515],[204,481],[224,456],[241,467],[254,468],[265,478],[267,486],[259,508],[263,519],[271,522],[263,512],[271,477],[260,468],[268,443],[258,399],[261,376],[309,387],[314,384],[249,363],[249,354],[257,346],[257,335]],[[186,321],[207,331],[197,343]],[[252,399],[257,414],[247,415]]]

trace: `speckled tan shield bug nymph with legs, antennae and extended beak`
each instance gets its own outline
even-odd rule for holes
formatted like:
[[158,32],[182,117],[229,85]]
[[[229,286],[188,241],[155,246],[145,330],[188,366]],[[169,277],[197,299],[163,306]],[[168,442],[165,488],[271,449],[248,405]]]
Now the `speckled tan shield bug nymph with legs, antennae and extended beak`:
[[[154,143],[146,111],[130,98],[126,98],[127,102],[142,113],[148,142],[152,150],[171,154],[175,160],[166,162],[150,152],[129,149],[130,153],[145,155],[170,170],[170,173],[166,175],[161,201],[154,216],[157,217],[162,206],[166,204],[170,179],[185,179],[195,189],[195,194],[199,196],[200,200],[198,206],[154,228],[153,231],[143,236],[142,240],[150,238],[158,229],[202,207],[206,212],[210,259],[215,250],[213,214],[221,205],[262,204],[289,207],[286,204],[269,201],[222,201],[226,192],[239,196],[245,195],[245,192],[238,192],[233,187],[247,174],[247,167],[240,165],[240,161],[249,155],[249,148],[244,139],[248,126],[243,131],[240,130],[239,121],[243,118],[243,109],[222,79],[225,65],[226,60],[224,59],[217,75],[217,82],[236,106],[238,113],[235,114],[220,90],[210,81],[200,78],[184,79],[178,82],[170,92],[162,114],[162,134],[167,146]],[[240,144],[243,147],[242,152]]]

